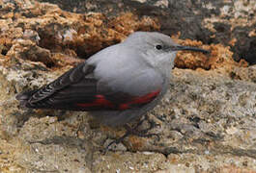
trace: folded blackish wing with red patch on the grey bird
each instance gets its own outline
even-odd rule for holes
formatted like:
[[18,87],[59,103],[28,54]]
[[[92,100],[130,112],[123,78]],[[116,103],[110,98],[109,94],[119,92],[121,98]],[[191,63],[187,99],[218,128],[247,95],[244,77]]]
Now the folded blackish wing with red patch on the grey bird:
[[156,89],[143,96],[132,96],[113,91],[105,85],[100,87],[107,92],[100,93],[97,89],[98,80],[94,78],[94,69],[94,66],[86,62],[80,63],[52,83],[35,91],[21,93],[16,98],[25,102],[26,107],[36,109],[123,111],[151,102],[160,92],[160,89]]

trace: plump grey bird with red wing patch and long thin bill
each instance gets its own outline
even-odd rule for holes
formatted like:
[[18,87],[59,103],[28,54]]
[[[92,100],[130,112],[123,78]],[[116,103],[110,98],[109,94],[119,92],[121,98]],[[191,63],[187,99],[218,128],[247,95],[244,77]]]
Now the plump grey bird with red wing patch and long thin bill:
[[166,93],[182,46],[156,32],[135,32],[102,49],[52,83],[16,95],[32,109],[91,111],[104,125],[123,126],[152,110]]

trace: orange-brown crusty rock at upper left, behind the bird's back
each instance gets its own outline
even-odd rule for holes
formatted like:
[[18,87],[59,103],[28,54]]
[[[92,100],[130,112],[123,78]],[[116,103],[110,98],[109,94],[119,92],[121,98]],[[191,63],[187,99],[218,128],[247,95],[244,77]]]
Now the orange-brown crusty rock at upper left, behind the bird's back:
[[76,64],[78,57],[88,59],[134,31],[159,29],[156,18],[139,18],[131,12],[107,18],[99,12],[62,11],[48,3],[19,3],[15,12],[14,4],[0,2],[0,53],[6,58],[43,62],[50,68]]

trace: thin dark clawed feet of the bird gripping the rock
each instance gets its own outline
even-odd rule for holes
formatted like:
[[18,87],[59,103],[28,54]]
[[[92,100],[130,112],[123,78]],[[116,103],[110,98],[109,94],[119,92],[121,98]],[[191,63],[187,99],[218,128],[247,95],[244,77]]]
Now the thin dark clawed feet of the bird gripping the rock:
[[[147,129],[138,131],[138,128],[141,126],[141,124],[145,121],[148,120],[148,122],[150,123],[150,127],[148,127]],[[125,129],[127,130],[126,134],[124,136],[121,136],[115,140],[113,140],[112,142],[110,142],[105,149],[103,150],[104,152],[108,151],[110,146],[113,145],[114,143],[119,144],[120,142],[124,141],[124,139],[127,136],[133,135],[133,136],[140,136],[140,137],[151,137],[151,136],[156,136],[157,140],[160,139],[158,134],[147,134],[150,130],[154,129],[156,126],[159,126],[158,124],[156,124],[156,122],[154,122],[153,120],[150,120],[148,118],[148,116],[144,116],[144,118],[142,120],[140,120],[135,127],[130,127],[128,124],[125,125]]]

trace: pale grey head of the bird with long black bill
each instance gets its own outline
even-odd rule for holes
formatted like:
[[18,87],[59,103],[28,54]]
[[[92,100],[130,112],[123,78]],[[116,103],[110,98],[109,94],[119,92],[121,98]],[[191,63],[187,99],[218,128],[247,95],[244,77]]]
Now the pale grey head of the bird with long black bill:
[[161,67],[163,64],[173,66],[177,51],[195,51],[209,53],[209,51],[175,43],[171,37],[156,32],[135,32],[124,41],[134,48],[140,57],[153,66]]

